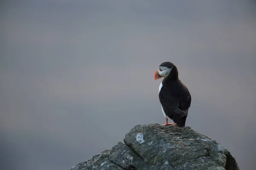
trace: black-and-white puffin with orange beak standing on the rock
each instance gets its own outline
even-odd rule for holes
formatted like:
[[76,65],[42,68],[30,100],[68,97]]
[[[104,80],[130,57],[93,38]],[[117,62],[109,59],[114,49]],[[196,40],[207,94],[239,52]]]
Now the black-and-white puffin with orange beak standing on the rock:
[[166,119],[166,123],[163,125],[173,125],[173,123],[168,123],[169,118],[172,119],[174,125],[185,127],[191,104],[189,90],[180,81],[178,69],[172,62],[163,62],[159,65],[154,74],[154,79],[161,78],[163,78],[163,81],[159,86],[158,94],[162,112]]

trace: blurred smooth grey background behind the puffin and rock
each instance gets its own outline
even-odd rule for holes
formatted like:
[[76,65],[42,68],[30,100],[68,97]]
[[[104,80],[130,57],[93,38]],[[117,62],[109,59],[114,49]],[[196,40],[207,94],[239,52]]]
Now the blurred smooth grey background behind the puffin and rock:
[[164,123],[154,71],[177,65],[186,126],[256,161],[256,3],[249,0],[4,0],[3,170],[68,170]]

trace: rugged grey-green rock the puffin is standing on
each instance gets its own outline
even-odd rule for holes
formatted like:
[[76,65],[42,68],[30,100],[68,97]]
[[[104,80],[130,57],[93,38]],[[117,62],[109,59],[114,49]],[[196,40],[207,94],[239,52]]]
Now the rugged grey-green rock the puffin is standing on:
[[137,125],[124,143],[70,170],[239,170],[225,147],[190,127]]

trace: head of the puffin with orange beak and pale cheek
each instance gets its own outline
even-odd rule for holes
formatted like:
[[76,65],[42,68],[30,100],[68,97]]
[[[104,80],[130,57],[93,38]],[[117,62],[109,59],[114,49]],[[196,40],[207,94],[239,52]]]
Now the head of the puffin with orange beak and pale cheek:
[[157,71],[154,74],[154,79],[161,79],[166,77],[178,77],[177,67],[172,62],[163,62],[159,65]]

